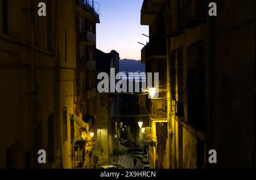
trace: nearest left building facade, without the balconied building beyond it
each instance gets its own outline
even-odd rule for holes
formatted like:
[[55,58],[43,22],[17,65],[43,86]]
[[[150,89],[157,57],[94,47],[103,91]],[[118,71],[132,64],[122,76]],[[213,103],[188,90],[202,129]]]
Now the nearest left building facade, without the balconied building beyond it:
[[[73,99],[66,96],[75,89],[75,2],[40,2],[47,16],[38,16],[39,1],[0,1],[1,168],[71,164]],[[46,164],[38,163],[40,149]]]

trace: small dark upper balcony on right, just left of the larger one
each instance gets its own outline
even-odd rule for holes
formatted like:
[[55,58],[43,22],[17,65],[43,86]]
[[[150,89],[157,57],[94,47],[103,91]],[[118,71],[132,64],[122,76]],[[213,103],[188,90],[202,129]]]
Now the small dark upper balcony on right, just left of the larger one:
[[184,32],[183,28],[178,26],[178,8],[171,7],[166,13],[166,36],[174,37]]

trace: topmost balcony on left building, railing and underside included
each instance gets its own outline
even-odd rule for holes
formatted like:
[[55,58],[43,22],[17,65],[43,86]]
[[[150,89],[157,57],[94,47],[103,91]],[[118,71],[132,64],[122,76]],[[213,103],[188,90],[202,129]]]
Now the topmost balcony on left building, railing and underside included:
[[100,4],[89,0],[76,0],[77,11],[85,18],[100,23]]

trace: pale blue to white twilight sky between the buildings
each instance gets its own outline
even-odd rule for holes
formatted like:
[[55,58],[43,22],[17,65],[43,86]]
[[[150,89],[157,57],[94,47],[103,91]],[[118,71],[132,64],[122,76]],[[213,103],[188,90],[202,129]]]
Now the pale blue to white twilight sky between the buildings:
[[146,44],[148,26],[141,25],[143,0],[95,0],[100,3],[97,24],[97,49],[105,53],[116,50],[121,59],[141,60],[142,42]]

